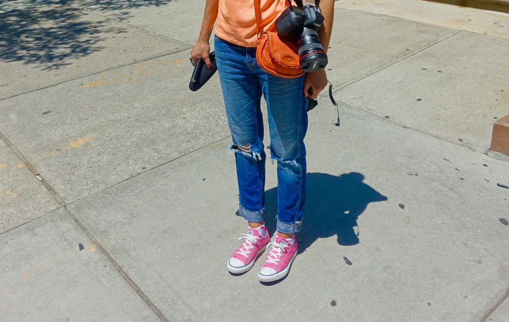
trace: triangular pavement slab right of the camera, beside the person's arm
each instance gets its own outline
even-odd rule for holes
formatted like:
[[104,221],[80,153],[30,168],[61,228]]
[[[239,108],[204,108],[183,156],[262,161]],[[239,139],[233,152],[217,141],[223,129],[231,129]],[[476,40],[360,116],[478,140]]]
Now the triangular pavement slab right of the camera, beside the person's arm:
[[458,31],[335,8],[327,77],[341,85]]

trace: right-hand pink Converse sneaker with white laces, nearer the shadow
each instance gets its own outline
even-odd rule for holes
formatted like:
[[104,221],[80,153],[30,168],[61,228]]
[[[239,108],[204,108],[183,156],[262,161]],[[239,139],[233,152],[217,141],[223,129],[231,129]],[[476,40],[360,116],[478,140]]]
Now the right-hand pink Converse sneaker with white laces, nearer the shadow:
[[274,242],[267,245],[270,249],[258,278],[262,282],[272,282],[288,275],[290,266],[297,256],[297,240],[293,236],[290,241],[276,235]]

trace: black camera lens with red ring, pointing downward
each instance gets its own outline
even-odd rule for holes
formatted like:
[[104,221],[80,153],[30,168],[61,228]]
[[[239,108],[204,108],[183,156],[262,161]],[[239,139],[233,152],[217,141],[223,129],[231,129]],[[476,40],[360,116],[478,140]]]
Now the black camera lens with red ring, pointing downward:
[[300,68],[304,72],[317,72],[327,66],[327,54],[315,30],[304,27],[298,43]]

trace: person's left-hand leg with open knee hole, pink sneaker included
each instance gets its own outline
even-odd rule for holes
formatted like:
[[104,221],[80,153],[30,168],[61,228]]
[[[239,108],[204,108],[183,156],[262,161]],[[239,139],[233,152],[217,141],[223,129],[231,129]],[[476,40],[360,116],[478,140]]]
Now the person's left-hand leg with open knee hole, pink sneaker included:
[[215,38],[217,70],[224,97],[230,146],[235,155],[239,187],[239,216],[248,221],[244,243],[228,260],[228,270],[243,273],[270,241],[263,225],[265,210],[265,160],[263,118],[260,109],[261,86],[251,68],[252,48],[245,48]]

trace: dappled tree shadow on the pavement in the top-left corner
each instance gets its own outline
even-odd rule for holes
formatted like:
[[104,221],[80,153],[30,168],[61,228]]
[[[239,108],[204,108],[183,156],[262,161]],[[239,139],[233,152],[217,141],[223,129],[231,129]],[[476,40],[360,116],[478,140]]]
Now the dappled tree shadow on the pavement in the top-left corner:
[[[104,10],[161,6],[173,0],[85,1]],[[65,5],[62,0],[0,1],[0,63],[21,62],[42,70],[70,65],[70,60],[104,49],[107,33],[122,28],[107,27],[117,21],[91,15]],[[69,3],[72,3],[70,1]],[[75,62],[74,62],[75,63]]]

